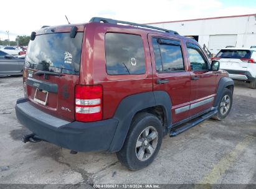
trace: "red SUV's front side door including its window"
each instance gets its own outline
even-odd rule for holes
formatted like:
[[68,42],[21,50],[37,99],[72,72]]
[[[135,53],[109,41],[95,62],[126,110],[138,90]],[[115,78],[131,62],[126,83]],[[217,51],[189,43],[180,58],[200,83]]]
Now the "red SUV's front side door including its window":
[[191,106],[189,116],[212,107],[216,96],[216,74],[209,71],[210,65],[201,48],[187,44],[191,73]]

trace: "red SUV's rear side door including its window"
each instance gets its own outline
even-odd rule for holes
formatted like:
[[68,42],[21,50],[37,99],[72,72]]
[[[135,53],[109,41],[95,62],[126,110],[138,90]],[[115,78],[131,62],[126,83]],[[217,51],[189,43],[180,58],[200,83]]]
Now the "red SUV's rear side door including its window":
[[[189,114],[191,78],[186,71],[183,43],[174,37],[149,34],[153,68],[153,90],[166,91],[171,99],[172,123]],[[168,123],[171,124],[171,123]]]

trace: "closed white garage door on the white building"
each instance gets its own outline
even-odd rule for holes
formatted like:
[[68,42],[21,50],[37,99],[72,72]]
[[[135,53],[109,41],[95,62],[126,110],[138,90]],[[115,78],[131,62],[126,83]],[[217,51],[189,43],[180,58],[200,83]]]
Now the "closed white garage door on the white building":
[[209,50],[216,54],[221,48],[237,44],[237,35],[210,35]]

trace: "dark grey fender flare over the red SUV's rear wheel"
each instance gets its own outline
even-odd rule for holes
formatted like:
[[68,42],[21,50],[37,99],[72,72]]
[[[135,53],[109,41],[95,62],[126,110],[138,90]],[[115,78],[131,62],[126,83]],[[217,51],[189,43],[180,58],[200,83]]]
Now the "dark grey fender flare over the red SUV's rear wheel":
[[121,150],[135,114],[142,109],[154,106],[162,106],[166,122],[171,123],[171,99],[165,91],[133,94],[122,99],[113,116],[118,120],[118,126],[108,151],[118,152]]

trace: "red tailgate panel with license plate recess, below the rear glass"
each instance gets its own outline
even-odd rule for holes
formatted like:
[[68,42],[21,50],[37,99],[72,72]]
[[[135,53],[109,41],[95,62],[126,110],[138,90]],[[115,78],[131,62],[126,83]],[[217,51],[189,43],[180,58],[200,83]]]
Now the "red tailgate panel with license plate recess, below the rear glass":
[[45,80],[44,75],[35,75],[35,70],[27,69],[26,71],[27,75],[31,75],[27,78],[27,98],[37,108],[67,121],[73,121],[75,119],[74,90],[79,82],[79,76],[49,75],[49,80]]

